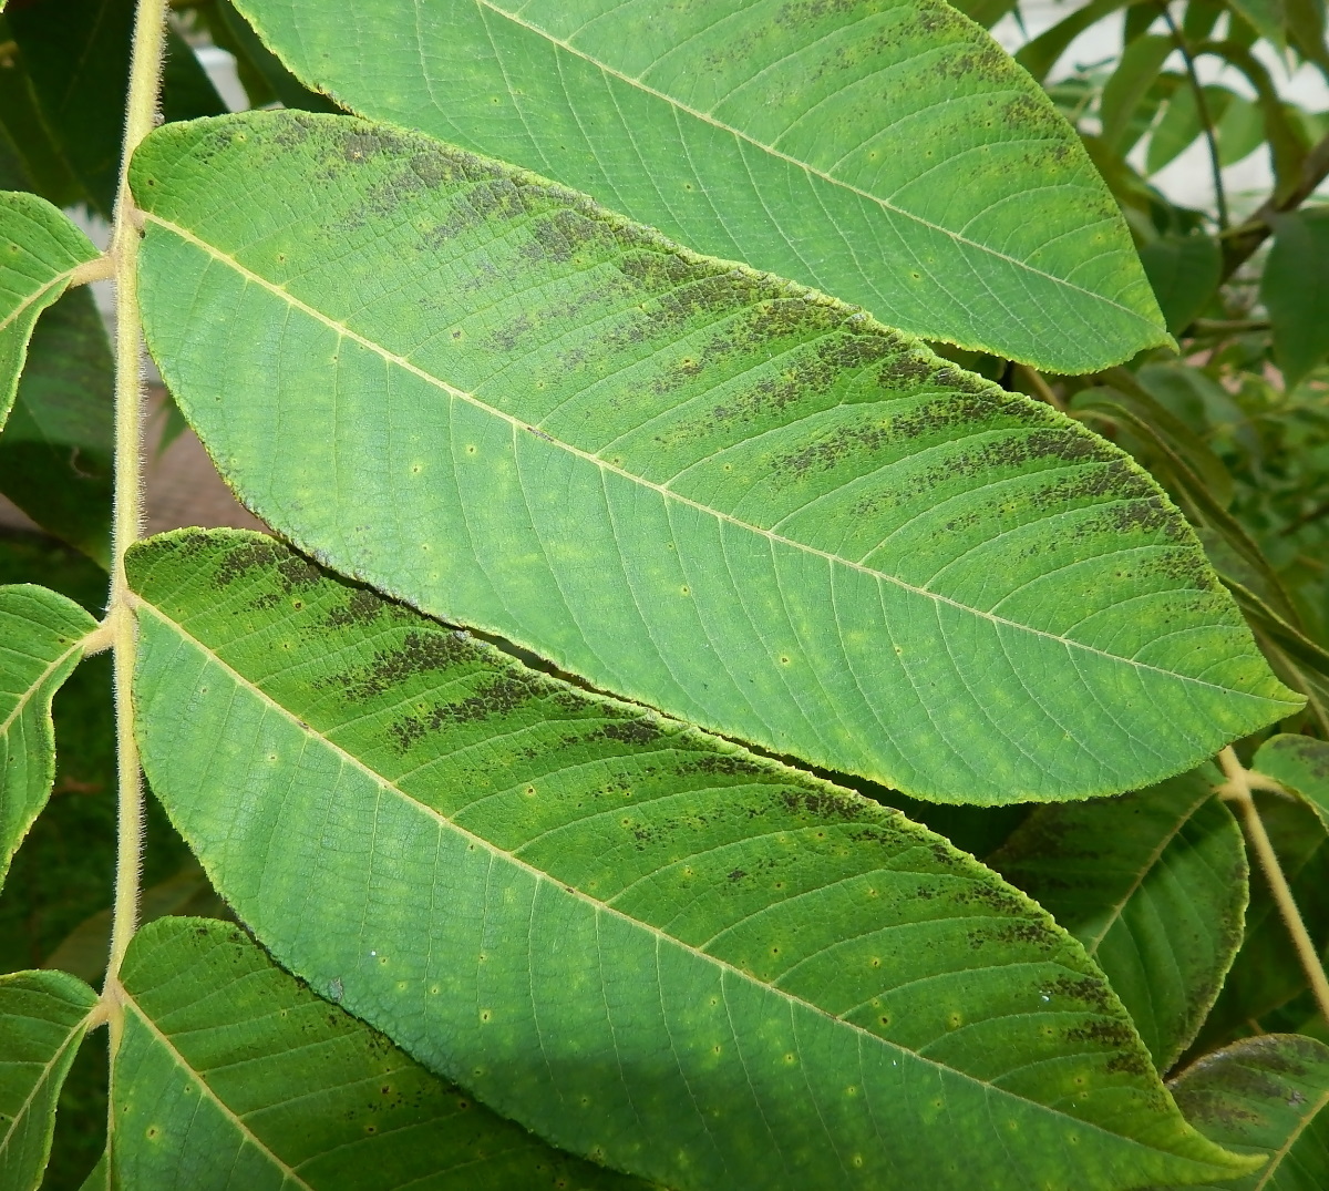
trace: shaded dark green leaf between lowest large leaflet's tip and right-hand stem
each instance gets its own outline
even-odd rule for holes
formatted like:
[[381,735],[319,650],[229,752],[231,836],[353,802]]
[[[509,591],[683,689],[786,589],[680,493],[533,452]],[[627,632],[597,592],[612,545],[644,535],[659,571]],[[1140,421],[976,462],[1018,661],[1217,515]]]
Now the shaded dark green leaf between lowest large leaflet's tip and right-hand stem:
[[987,859],[1102,966],[1160,1071],[1241,945],[1247,859],[1212,766],[1116,799],[1039,807]]

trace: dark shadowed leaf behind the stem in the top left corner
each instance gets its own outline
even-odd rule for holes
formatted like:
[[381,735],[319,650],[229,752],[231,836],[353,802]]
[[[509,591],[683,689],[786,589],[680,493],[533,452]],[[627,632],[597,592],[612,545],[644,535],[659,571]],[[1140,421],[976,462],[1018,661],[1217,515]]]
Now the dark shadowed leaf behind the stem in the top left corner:
[[[7,13],[41,118],[88,203],[110,217],[120,177],[134,0],[29,0]],[[162,114],[193,120],[226,110],[174,31],[167,31]]]

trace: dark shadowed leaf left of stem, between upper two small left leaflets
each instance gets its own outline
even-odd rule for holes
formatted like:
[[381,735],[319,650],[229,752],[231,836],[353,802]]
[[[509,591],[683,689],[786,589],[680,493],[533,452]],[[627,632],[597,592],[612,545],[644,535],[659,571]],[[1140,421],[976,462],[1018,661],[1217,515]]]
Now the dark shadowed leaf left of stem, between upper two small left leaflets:
[[37,320],[4,435],[0,492],[43,529],[110,566],[114,385],[88,288]]

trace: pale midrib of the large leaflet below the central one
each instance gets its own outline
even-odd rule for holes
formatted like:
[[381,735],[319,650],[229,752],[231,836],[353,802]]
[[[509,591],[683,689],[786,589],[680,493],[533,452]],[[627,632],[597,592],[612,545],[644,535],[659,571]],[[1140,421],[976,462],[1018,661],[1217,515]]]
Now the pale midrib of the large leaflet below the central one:
[[[934,1069],[937,1071],[944,1071],[945,1074],[948,1074],[950,1077],[964,1079],[964,1081],[971,1083],[973,1086],[982,1089],[983,1093],[997,1094],[999,1097],[1011,1099],[1011,1101],[1014,1101],[1014,1102],[1017,1102],[1017,1103],[1019,1103],[1022,1106],[1033,1107],[1033,1109],[1035,1109],[1038,1111],[1049,1113],[1053,1117],[1062,1118],[1062,1119],[1066,1119],[1066,1121],[1071,1121],[1071,1122],[1074,1122],[1079,1127],[1094,1130],[1095,1133],[1099,1133],[1099,1134],[1102,1134],[1104,1137],[1108,1137],[1108,1138],[1114,1138],[1118,1142],[1127,1142],[1128,1144],[1136,1146],[1140,1150],[1144,1150],[1147,1152],[1163,1154],[1163,1155],[1168,1155],[1170,1158],[1172,1158],[1172,1159],[1175,1159],[1177,1162],[1193,1163],[1193,1164],[1201,1166],[1201,1167],[1208,1166],[1208,1168],[1211,1168],[1211,1170],[1215,1168],[1212,1164],[1205,1163],[1204,1159],[1193,1158],[1193,1156],[1184,1155],[1184,1154],[1179,1154],[1179,1152],[1172,1151],[1172,1150],[1163,1150],[1163,1148],[1159,1148],[1159,1147],[1148,1146],[1146,1142],[1140,1140],[1139,1138],[1128,1137],[1128,1135],[1120,1134],[1120,1133],[1112,1133],[1110,1129],[1107,1129],[1103,1125],[1099,1125],[1098,1122],[1083,1121],[1079,1117],[1071,1117],[1070,1114],[1063,1113],[1062,1110],[1055,1109],[1055,1107],[1053,1107],[1050,1105],[1045,1105],[1045,1103],[1041,1103],[1039,1101],[1034,1101],[1034,1099],[1027,1099],[1027,1098],[1021,1097],[1021,1095],[1018,1095],[1018,1094],[1015,1094],[1013,1091],[1006,1090],[1005,1087],[998,1087],[995,1083],[989,1083],[987,1081],[981,1079],[977,1075],[971,1075],[968,1071],[962,1071],[958,1067],[950,1067],[950,1066],[946,1066],[942,1062],[938,1062],[937,1059],[928,1058],[926,1055],[920,1054],[916,1050],[910,1050],[909,1047],[902,1046],[898,1042],[892,1042],[889,1038],[882,1038],[880,1034],[873,1034],[870,1030],[865,1030],[863,1026],[860,1026],[860,1025],[857,1025],[855,1022],[845,1021],[844,1018],[837,1017],[836,1014],[828,1012],[827,1009],[823,1009],[820,1005],[816,1005],[816,1004],[813,1004],[811,1001],[805,1001],[801,997],[796,997],[792,993],[788,993],[784,989],[779,988],[777,985],[772,985],[772,984],[767,984],[764,981],[760,981],[755,976],[751,976],[750,973],[743,972],[740,968],[735,968],[728,961],[722,960],[718,956],[712,956],[712,954],[710,954],[707,952],[703,952],[703,950],[692,946],[691,944],[684,942],[680,938],[675,938],[672,934],[668,934],[667,932],[662,930],[658,926],[653,926],[650,922],[643,922],[641,919],[634,919],[630,915],[626,915],[622,911],[615,909],[614,907],[607,905],[606,903],[597,900],[595,897],[590,896],[589,893],[583,892],[582,889],[578,889],[574,885],[569,885],[569,884],[566,884],[563,881],[556,880],[548,872],[544,872],[542,869],[540,869],[540,868],[529,864],[528,861],[521,860],[520,857],[517,857],[512,852],[504,851],[497,844],[492,843],[490,840],[486,840],[484,836],[476,835],[474,832],[466,829],[465,827],[462,827],[461,824],[459,824],[456,820],[449,819],[448,816],[440,813],[439,811],[435,811],[432,807],[425,806],[419,799],[412,798],[409,794],[407,794],[404,790],[401,790],[396,783],[393,783],[389,779],[384,778],[381,774],[375,772],[372,768],[369,768],[368,764],[365,764],[363,760],[360,760],[360,758],[355,756],[355,754],[348,752],[340,744],[336,744],[334,740],[328,739],[328,736],[326,736],[323,732],[316,731],[311,724],[308,724],[304,720],[302,720],[290,708],[282,706],[276,699],[274,699],[271,695],[268,695],[267,691],[264,691],[262,687],[259,687],[255,682],[253,682],[251,679],[249,679],[247,677],[245,677],[243,674],[241,674],[238,670],[235,670],[229,662],[226,662],[225,659],[222,659],[218,655],[218,653],[211,646],[206,645],[198,637],[195,637],[193,633],[190,633],[174,617],[167,615],[162,610],[161,606],[158,606],[155,603],[152,603],[145,597],[142,597],[142,596],[140,596],[137,593],[134,593],[132,596],[132,599],[133,599],[133,602],[140,609],[148,609],[150,611],[150,614],[154,615],[154,617],[157,617],[163,625],[169,626],[170,629],[173,629],[185,641],[191,642],[206,658],[210,659],[211,665],[217,666],[219,670],[222,670],[225,674],[227,674],[238,686],[241,686],[242,689],[250,691],[267,708],[275,711],[279,716],[282,716],[283,719],[286,719],[288,723],[294,724],[307,739],[310,739],[310,740],[315,742],[316,744],[327,748],[328,752],[334,754],[343,764],[347,764],[352,770],[356,770],[358,772],[363,774],[365,778],[368,778],[371,782],[373,782],[376,786],[379,786],[380,790],[383,790],[384,792],[395,795],[396,798],[401,799],[404,803],[409,804],[412,808],[415,808],[420,813],[425,815],[429,819],[433,819],[437,824],[440,824],[441,827],[444,827],[447,831],[456,832],[462,839],[465,839],[465,840],[476,844],[476,847],[485,849],[490,856],[493,856],[494,859],[497,859],[500,863],[510,864],[513,868],[524,871],[525,873],[528,873],[538,884],[544,884],[546,887],[550,887],[556,892],[556,895],[561,895],[561,896],[565,896],[565,897],[571,897],[571,899],[574,899],[577,901],[581,901],[581,903],[589,905],[594,913],[607,915],[607,916],[610,916],[610,917],[613,917],[613,919],[615,919],[615,920],[618,920],[621,922],[626,922],[631,929],[646,932],[647,934],[653,936],[657,940],[657,944],[659,944],[659,942],[663,941],[664,944],[667,944],[670,946],[675,946],[675,948],[680,949],[682,952],[684,952],[687,954],[691,954],[691,956],[695,956],[695,957],[700,958],[703,962],[712,965],[714,968],[719,969],[722,974],[727,974],[727,976],[732,977],[734,980],[738,980],[738,981],[742,981],[743,984],[755,986],[755,988],[760,989],[763,993],[766,993],[768,996],[777,997],[779,1000],[783,1000],[783,1001],[788,1002],[789,1005],[795,1005],[795,1006],[797,1006],[800,1009],[812,1010],[819,1017],[821,1017],[821,1018],[824,1018],[824,1020],[827,1020],[829,1022],[833,1022],[837,1028],[849,1030],[855,1037],[857,1037],[860,1039],[860,1045],[861,1045],[863,1041],[867,1041],[869,1045],[882,1046],[882,1047],[885,1047],[885,1049],[888,1049],[890,1051],[898,1053],[901,1055],[906,1055],[909,1059],[912,1059],[914,1062],[924,1063],[925,1066],[932,1067],[932,1069]],[[207,865],[205,864],[205,868],[206,867]],[[211,876],[211,873],[209,873],[209,876]],[[1074,969],[1070,969],[1070,970],[1074,970]]]

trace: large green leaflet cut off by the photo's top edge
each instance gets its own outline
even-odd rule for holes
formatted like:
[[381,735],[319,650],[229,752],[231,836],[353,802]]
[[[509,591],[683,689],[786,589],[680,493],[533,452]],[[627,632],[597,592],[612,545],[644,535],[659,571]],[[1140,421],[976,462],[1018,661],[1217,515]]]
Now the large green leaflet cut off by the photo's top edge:
[[905,331],[1057,372],[1168,342],[1074,130],[938,0],[237,7],[356,112]]

